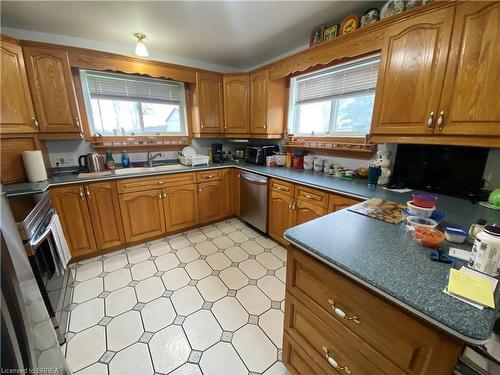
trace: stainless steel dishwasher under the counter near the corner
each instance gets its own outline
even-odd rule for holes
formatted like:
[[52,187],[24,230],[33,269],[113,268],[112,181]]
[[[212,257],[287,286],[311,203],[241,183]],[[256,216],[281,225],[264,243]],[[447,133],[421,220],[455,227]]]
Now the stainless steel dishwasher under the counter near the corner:
[[240,216],[248,224],[267,231],[267,177],[240,172]]

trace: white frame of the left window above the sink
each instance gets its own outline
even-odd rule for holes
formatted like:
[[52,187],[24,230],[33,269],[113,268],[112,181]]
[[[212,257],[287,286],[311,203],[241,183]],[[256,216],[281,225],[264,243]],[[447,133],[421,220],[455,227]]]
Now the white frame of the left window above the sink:
[[[95,70],[90,70],[90,69],[80,69],[80,81],[82,84],[82,91],[83,91],[83,98],[85,102],[85,110],[87,112],[87,119],[89,122],[89,131],[91,133],[91,136],[97,135],[99,133],[95,126],[94,126],[94,117],[92,115],[92,103],[91,103],[91,97],[90,97],[90,90],[88,87],[87,79],[86,79],[86,72],[97,72],[97,73],[105,73],[109,75],[117,75],[117,76],[131,76],[130,74],[125,74],[125,73],[108,73],[108,72],[100,72],[100,71],[95,71]],[[171,80],[166,80],[166,79],[160,79],[160,78],[150,78],[150,77],[135,77],[135,78],[140,78],[142,80],[153,80],[153,81],[160,81],[160,82],[171,82],[171,83],[176,83],[180,85],[181,87],[181,95],[180,95],[180,102],[179,102],[179,122],[181,126],[181,131],[180,132],[161,132],[161,133],[146,133],[142,132],[140,134],[135,134],[136,136],[168,136],[168,137],[186,137],[189,135],[189,130],[188,130],[188,122],[187,122],[187,108],[186,108],[186,85],[184,82],[178,82],[178,81],[171,81]],[[107,99],[113,99],[112,96],[108,96]],[[120,101],[127,101],[126,98],[124,97],[116,97],[116,100]],[[142,113],[142,104],[143,103],[160,103],[160,104],[165,104],[165,102],[161,100],[130,100],[132,102],[138,103],[138,113]],[[141,125],[141,129],[144,130],[144,119],[142,115],[139,116],[139,122]],[[130,136],[130,134],[126,134],[127,136]],[[105,137],[113,137],[114,135],[104,135]],[[117,129],[117,136],[121,136],[120,129]]]

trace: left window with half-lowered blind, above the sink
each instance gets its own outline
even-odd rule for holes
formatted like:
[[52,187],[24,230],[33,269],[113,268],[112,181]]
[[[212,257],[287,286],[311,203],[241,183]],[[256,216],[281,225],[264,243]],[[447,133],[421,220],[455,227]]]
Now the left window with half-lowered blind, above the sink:
[[81,70],[92,135],[187,135],[184,84]]

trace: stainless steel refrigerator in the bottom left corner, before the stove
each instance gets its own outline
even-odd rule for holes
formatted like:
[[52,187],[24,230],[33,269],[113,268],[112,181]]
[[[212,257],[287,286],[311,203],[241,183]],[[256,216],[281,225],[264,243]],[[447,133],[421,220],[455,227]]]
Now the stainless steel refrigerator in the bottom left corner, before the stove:
[[2,373],[71,374],[7,199],[0,199]]

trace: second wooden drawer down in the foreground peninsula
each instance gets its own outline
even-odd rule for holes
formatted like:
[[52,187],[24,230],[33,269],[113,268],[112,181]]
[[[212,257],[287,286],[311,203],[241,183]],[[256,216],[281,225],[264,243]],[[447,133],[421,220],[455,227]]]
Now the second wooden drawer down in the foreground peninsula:
[[[316,315],[317,313],[320,313]],[[342,324],[330,326],[322,310],[311,312],[290,293],[285,298],[285,330],[325,373],[400,374],[401,370]],[[325,319],[326,318],[326,319]],[[332,362],[332,360],[334,362]],[[336,371],[335,363],[338,368]]]

